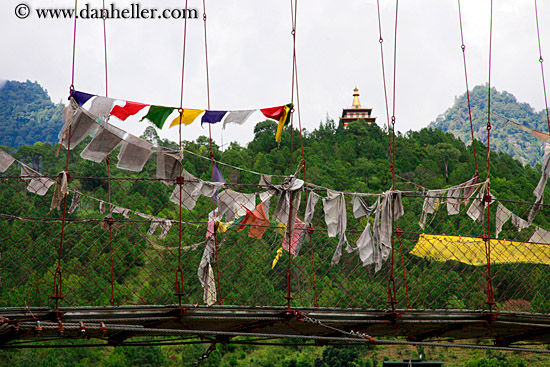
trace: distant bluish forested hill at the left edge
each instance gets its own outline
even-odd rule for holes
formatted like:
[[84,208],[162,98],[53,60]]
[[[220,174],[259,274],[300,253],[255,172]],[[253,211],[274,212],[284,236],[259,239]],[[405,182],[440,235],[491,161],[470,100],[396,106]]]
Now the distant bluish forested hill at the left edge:
[[56,143],[63,107],[36,82],[0,82],[0,145]]

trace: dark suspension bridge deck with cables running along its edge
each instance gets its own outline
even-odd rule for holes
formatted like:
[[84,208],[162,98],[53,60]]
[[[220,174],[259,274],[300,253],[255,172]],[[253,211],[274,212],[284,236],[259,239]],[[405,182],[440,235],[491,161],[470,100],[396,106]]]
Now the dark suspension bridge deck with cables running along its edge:
[[[62,322],[57,317],[62,314]],[[400,337],[409,341],[454,342],[490,339],[507,347],[520,341],[550,343],[550,315],[474,310],[384,310],[241,306],[123,306],[1,308],[0,343],[74,337],[120,345],[136,336],[206,338],[298,338],[318,344],[369,342]],[[350,332],[352,332],[350,334]],[[372,341],[370,341],[372,342]]]

